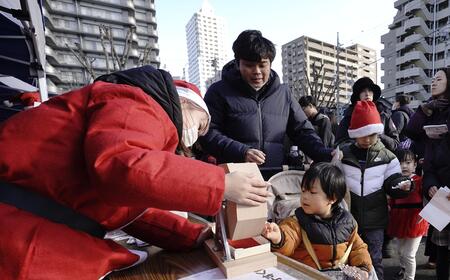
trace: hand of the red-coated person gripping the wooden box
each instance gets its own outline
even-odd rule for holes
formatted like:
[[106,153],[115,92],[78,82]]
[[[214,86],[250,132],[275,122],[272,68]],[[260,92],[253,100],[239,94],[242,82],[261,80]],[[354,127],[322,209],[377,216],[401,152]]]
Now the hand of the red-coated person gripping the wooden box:
[[248,206],[258,206],[267,201],[270,193],[267,188],[270,186],[253,175],[235,171],[225,174],[225,194],[227,200]]

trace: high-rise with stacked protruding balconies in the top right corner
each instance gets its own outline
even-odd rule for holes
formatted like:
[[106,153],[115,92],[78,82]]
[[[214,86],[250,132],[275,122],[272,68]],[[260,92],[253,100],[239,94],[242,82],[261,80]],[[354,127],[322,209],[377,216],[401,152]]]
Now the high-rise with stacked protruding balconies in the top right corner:
[[450,9],[447,0],[397,0],[389,32],[381,36],[383,95],[427,99],[434,69],[450,65]]

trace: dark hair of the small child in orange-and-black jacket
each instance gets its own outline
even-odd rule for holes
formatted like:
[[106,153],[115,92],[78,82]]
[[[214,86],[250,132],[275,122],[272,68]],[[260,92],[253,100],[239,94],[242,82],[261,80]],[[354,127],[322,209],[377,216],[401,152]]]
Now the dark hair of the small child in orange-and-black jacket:
[[302,189],[310,190],[314,181],[319,179],[323,192],[328,199],[336,199],[333,207],[338,205],[345,196],[347,185],[342,171],[329,162],[313,164],[303,175]]

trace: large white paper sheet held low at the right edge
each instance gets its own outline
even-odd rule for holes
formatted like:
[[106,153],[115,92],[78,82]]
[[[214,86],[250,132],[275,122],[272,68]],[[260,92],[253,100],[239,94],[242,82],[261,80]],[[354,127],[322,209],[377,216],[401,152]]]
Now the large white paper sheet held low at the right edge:
[[450,194],[448,187],[440,188],[419,215],[437,230],[442,231],[450,223]]

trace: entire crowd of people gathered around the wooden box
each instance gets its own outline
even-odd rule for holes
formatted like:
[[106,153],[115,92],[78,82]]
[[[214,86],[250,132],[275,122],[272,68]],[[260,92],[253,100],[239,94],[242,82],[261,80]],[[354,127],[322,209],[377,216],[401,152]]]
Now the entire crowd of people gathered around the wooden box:
[[380,87],[361,77],[337,124],[310,96],[293,98],[271,69],[275,46],[261,32],[242,32],[233,51],[204,96],[144,66],[1,123],[2,279],[99,279],[144,261],[103,239],[115,229],[169,250],[195,248],[211,229],[169,210],[214,215],[224,199],[266,203],[266,182],[216,164],[281,167],[295,145],[313,164],[295,215],[262,229],[273,250],[316,269],[347,264],[384,279],[389,236],[397,239],[398,279],[414,279],[427,235],[430,265],[447,280],[450,228],[433,229],[418,213],[450,186],[450,135],[424,129],[450,126],[450,70],[437,71],[431,98],[415,112],[406,96],[387,108]]

